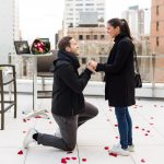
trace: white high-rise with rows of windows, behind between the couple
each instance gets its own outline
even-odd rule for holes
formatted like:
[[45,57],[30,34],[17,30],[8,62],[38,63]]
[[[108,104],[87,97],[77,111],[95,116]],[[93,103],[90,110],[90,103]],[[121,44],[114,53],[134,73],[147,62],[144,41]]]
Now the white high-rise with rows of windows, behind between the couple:
[[105,0],[65,0],[63,27],[79,26],[84,12],[94,12],[97,20],[105,20]]

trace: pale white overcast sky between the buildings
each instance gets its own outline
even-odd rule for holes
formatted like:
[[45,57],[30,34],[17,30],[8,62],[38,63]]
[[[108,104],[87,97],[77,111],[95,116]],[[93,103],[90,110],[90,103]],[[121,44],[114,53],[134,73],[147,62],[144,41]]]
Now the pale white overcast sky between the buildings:
[[[120,17],[130,5],[150,9],[151,0],[106,0],[106,20]],[[48,37],[61,30],[65,0],[20,0],[20,28],[23,39],[32,43],[36,37]]]

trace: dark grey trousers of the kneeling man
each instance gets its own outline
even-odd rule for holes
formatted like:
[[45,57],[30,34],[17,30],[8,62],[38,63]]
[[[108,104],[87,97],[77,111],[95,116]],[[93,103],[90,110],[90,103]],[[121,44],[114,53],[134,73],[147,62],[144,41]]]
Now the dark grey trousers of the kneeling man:
[[37,142],[38,144],[54,147],[65,151],[72,151],[77,144],[78,127],[92,119],[97,114],[98,109],[94,105],[85,102],[84,114],[70,117],[52,115],[59,126],[61,138],[46,133],[38,133]]

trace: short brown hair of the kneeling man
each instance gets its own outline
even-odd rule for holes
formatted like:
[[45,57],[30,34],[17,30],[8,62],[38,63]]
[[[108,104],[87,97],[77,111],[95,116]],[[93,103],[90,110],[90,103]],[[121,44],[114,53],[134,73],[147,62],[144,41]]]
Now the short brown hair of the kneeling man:
[[66,47],[70,47],[70,39],[73,37],[71,36],[65,36],[62,37],[58,43],[59,50],[66,50]]

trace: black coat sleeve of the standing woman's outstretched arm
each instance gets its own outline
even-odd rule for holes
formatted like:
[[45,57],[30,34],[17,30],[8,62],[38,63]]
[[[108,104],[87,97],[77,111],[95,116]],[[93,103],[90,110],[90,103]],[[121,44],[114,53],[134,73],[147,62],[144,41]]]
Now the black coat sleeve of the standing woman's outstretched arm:
[[131,45],[130,43],[128,42],[121,42],[118,44],[118,49],[117,49],[117,54],[116,54],[116,58],[115,58],[115,61],[113,65],[107,65],[107,63],[97,63],[97,68],[96,68],[96,71],[104,71],[104,72],[107,72],[107,73],[117,73],[119,72],[127,58],[128,58],[128,55],[131,50]]

